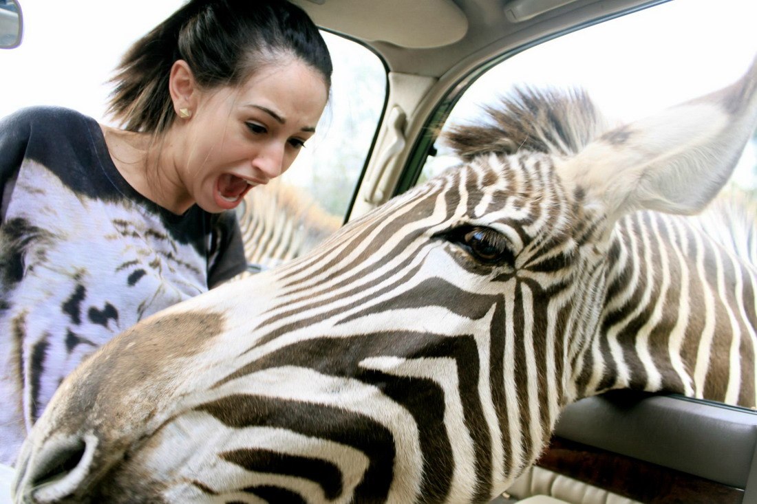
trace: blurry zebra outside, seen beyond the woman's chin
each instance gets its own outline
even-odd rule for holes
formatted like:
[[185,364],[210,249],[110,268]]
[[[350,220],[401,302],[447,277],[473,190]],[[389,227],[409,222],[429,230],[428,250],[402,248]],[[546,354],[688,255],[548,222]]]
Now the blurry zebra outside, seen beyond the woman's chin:
[[341,227],[306,191],[273,179],[248,192],[237,207],[248,272],[260,272],[299,257]]

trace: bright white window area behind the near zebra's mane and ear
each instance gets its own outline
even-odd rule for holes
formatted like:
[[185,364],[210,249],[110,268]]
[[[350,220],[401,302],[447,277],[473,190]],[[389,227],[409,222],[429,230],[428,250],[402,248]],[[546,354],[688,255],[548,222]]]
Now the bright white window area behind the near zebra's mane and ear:
[[[615,120],[636,120],[738,79],[757,53],[757,2],[674,0],[536,45],[492,67],[459,99],[450,124],[475,120],[512,86],[581,86]],[[757,187],[757,139],[733,182]],[[420,182],[457,163],[437,142]]]

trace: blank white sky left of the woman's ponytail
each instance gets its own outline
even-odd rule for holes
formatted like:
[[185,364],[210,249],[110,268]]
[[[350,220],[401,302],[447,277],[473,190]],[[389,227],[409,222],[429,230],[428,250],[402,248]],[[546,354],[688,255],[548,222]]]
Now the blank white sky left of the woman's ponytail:
[[182,5],[182,0],[17,0],[20,47],[0,50],[0,117],[28,105],[104,114],[104,82],[123,51]]

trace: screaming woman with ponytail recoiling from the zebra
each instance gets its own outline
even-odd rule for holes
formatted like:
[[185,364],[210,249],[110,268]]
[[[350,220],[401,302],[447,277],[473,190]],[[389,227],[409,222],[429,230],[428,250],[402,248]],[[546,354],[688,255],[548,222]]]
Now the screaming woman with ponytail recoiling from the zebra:
[[313,135],[331,73],[300,8],[192,0],[117,69],[123,129],[0,121],[0,463],[84,357],[245,269],[232,210]]

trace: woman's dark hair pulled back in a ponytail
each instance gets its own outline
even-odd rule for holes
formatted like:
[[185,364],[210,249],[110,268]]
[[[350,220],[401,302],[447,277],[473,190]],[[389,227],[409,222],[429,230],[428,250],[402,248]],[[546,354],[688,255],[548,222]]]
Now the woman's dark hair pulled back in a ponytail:
[[129,131],[173,123],[170,69],[184,60],[203,89],[234,86],[282,57],[297,57],[331,87],[332,62],[318,28],[287,0],[190,0],[124,54],[108,113]]

